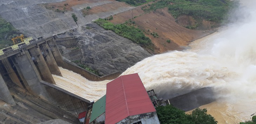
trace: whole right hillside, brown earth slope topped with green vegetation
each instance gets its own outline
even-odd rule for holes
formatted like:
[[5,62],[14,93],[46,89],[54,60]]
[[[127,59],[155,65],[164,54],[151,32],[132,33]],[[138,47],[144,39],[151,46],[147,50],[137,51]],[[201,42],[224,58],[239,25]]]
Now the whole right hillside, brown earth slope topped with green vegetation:
[[154,0],[116,14],[110,22],[133,22],[155,44],[155,52],[163,53],[182,50],[191,40],[227,22],[226,15],[236,5],[237,1],[230,0]]

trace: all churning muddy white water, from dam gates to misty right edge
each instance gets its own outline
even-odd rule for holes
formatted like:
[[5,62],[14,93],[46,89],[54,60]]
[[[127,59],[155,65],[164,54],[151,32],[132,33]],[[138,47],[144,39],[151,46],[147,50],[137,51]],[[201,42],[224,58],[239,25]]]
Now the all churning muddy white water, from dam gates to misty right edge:
[[[242,2],[255,5],[254,0]],[[255,7],[242,7],[234,19],[233,24],[220,32],[193,42],[190,50],[146,58],[122,75],[139,73],[146,89],[154,89],[163,98],[213,87],[217,101],[201,108],[207,108],[219,123],[249,120],[256,112]],[[54,75],[57,86],[88,100],[105,95],[109,81],[92,82],[60,70],[63,78]]]

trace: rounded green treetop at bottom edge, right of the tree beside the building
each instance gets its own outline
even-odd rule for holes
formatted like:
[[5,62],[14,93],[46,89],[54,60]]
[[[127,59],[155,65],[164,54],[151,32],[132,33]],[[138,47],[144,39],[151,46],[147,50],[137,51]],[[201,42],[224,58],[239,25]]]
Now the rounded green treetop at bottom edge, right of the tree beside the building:
[[215,118],[210,114],[207,115],[207,109],[196,108],[192,111],[189,116],[189,119],[193,121],[195,124],[217,124]]

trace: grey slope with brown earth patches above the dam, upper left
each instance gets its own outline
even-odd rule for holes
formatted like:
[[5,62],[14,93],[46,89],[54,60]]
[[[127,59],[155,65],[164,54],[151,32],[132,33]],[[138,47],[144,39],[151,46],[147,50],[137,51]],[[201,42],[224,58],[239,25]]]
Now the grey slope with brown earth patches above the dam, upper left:
[[[63,2],[62,2],[63,1]],[[75,28],[71,13],[75,13],[78,16],[78,24],[83,25],[92,22],[98,18],[105,18],[110,15],[114,15],[126,10],[129,10],[131,6],[117,2],[115,0],[51,0],[48,3],[50,7],[62,7],[65,3],[68,3],[67,7],[72,11],[67,12],[55,12],[51,9],[46,9],[41,3],[47,3],[48,0],[14,0],[4,1],[0,0],[0,15],[11,22],[14,27],[21,32],[24,32],[27,36],[45,37],[59,32]],[[108,9],[106,12],[98,12],[95,14],[86,15],[83,17],[81,10],[87,6],[99,7],[101,5],[113,3],[116,7]],[[111,5],[111,4],[110,4]]]

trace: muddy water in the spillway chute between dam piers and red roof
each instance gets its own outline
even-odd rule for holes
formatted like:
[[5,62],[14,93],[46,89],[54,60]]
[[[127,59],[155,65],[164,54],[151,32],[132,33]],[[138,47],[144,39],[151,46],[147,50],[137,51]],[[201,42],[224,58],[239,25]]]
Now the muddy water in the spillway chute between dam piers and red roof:
[[66,70],[62,67],[59,67],[59,69],[63,77],[53,75],[58,87],[90,101],[97,101],[106,94],[106,84],[109,80],[99,82],[89,81],[80,74]]

